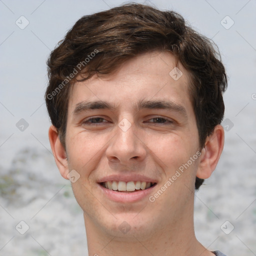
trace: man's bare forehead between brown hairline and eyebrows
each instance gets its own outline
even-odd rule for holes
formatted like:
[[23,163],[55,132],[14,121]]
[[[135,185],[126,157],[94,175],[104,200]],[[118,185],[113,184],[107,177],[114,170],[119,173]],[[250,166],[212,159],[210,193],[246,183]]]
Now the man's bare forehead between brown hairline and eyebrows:
[[171,99],[186,108],[190,101],[188,86],[188,71],[171,53],[147,52],[125,61],[112,74],[94,75],[74,83],[68,109],[73,111],[79,102],[86,100],[108,101],[129,108],[141,99]]

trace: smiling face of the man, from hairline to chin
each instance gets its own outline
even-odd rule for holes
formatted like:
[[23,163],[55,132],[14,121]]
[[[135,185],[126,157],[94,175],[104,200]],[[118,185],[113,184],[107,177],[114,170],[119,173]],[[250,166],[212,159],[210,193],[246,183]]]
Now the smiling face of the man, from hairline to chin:
[[66,153],[85,226],[145,237],[191,219],[199,138],[188,72],[178,64],[176,79],[175,66],[170,53],[145,53],[73,85]]

